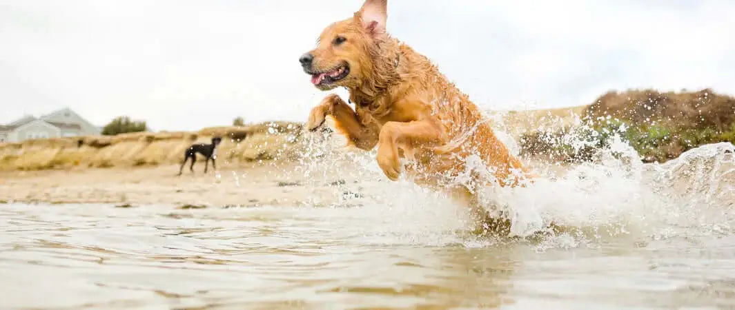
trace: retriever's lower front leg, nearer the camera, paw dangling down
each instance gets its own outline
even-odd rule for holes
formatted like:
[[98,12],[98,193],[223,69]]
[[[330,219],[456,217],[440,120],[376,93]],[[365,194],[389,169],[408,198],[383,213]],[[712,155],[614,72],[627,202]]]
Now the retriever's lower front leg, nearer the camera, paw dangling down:
[[387,122],[380,130],[378,142],[378,165],[390,180],[398,180],[401,160],[398,149],[413,153],[413,149],[432,147],[444,140],[444,133],[431,120],[414,122]]

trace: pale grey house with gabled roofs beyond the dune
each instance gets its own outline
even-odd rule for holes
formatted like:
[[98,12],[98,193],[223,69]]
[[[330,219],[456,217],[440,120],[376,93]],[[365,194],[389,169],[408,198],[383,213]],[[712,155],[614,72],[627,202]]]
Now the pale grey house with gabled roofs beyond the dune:
[[7,125],[0,125],[0,142],[90,136],[100,132],[100,128],[90,124],[70,108],[62,108],[42,117],[27,115]]

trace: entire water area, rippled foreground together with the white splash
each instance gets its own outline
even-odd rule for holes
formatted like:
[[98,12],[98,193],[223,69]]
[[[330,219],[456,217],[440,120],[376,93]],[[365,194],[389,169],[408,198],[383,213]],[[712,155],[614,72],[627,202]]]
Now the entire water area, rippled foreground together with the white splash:
[[661,165],[612,147],[478,191],[501,240],[409,180],[331,207],[0,204],[0,309],[735,308],[735,146]]

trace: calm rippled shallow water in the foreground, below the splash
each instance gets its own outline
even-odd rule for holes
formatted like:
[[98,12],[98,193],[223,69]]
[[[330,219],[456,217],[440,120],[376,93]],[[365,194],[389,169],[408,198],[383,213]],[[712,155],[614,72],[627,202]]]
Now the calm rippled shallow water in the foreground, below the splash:
[[4,204],[0,308],[735,307],[729,232],[498,242],[454,211]]

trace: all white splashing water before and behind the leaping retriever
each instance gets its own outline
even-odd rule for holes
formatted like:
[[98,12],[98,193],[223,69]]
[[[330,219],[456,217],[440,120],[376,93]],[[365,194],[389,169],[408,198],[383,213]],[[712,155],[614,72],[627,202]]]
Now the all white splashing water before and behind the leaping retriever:
[[[563,137],[565,143],[579,149],[589,147],[592,144],[581,134],[589,128],[577,125],[578,130]],[[497,129],[499,139],[517,154],[518,144],[502,128]],[[361,179],[383,177],[374,160],[375,151],[340,152],[344,140],[334,136],[337,139],[324,139],[327,135],[309,138],[312,140],[307,141],[309,147],[301,162],[305,173],[326,177],[329,172],[323,166],[345,161]],[[727,234],[735,222],[731,215],[735,203],[734,152],[730,143],[708,144],[666,163],[643,163],[633,147],[614,133],[605,147],[596,147],[592,161],[567,166],[562,173],[554,171],[558,166],[546,165],[536,170],[541,177],[527,187],[490,186],[478,191],[478,197],[488,210],[509,216],[511,235],[551,232],[549,226],[553,225],[561,228],[551,234],[559,245],[622,235],[663,239]],[[468,173],[479,171],[490,180],[487,167],[474,159],[467,158]],[[462,177],[456,180],[457,184],[465,182]],[[455,217],[462,213],[459,206],[446,205],[453,204],[447,197],[418,188],[411,180],[385,184],[381,197],[375,198],[383,204],[381,210],[391,210],[386,218],[399,219],[391,221],[390,229],[404,227],[404,233],[416,237],[432,229],[468,228],[467,221],[447,221],[452,213]],[[440,215],[422,217],[429,213]],[[410,224],[406,218],[412,218]]]

